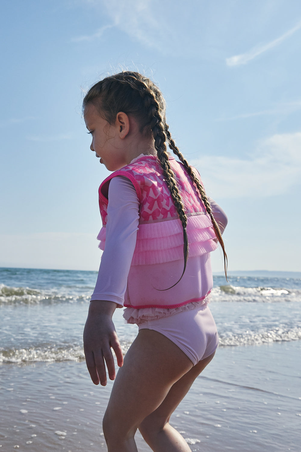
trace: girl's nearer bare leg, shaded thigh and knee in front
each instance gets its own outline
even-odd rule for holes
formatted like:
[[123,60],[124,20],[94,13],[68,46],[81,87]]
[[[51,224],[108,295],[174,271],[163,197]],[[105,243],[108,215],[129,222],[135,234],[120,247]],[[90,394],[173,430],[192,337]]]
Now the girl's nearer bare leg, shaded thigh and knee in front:
[[157,331],[139,331],[117,373],[103,419],[108,452],[137,451],[134,434],[138,426],[192,367],[190,359],[170,339]]

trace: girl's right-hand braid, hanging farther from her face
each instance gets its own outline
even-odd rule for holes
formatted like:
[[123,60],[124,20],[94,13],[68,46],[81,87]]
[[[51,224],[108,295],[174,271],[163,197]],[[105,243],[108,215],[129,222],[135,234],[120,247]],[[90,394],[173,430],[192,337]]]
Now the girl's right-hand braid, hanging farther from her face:
[[193,180],[194,184],[198,188],[200,199],[204,203],[204,206],[206,208],[207,213],[210,215],[210,218],[211,218],[211,221],[212,221],[212,224],[213,224],[213,228],[214,228],[214,231],[215,231],[215,235],[216,235],[216,237],[218,239],[218,242],[220,243],[220,245],[222,247],[222,252],[223,252],[223,255],[224,255],[225,275],[226,275],[226,280],[227,280],[228,259],[227,259],[227,254],[226,254],[226,251],[225,251],[225,245],[224,245],[224,241],[222,240],[222,233],[221,233],[221,231],[219,229],[218,223],[215,220],[215,218],[213,217],[213,213],[212,213],[212,209],[211,209],[211,206],[210,206],[210,202],[208,201],[208,198],[207,198],[206,192],[204,190],[204,187],[202,186],[202,184],[199,183],[199,179],[197,179],[195,177],[195,174],[194,174],[191,166],[189,165],[188,161],[181,154],[181,152],[179,151],[178,147],[176,146],[175,141],[171,138],[171,133],[168,130],[168,125],[167,124],[165,125],[165,133],[166,133],[166,136],[167,136],[167,140],[168,140],[168,144],[169,144],[170,149],[173,151],[174,154],[176,154],[177,157],[179,157],[179,159],[181,160],[181,162],[185,166],[185,169],[186,169],[188,175],[190,176],[190,179]]

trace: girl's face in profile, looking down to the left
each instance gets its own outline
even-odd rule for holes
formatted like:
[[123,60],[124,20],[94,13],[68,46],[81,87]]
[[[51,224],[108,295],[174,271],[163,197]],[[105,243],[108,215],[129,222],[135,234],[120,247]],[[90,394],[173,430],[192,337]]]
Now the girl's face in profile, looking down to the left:
[[91,151],[100,157],[100,163],[109,171],[116,171],[127,165],[126,153],[118,139],[116,125],[110,126],[93,104],[88,104],[83,112],[86,127],[92,135]]

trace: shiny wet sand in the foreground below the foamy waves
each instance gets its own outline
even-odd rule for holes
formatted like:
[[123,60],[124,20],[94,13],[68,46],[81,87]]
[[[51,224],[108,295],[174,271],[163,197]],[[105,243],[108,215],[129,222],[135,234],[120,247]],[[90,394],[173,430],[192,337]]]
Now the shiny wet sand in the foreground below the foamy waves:
[[[171,418],[192,451],[300,451],[301,341],[220,348]],[[0,450],[107,450],[112,382],[84,362],[0,366]],[[138,450],[150,451],[136,435]]]

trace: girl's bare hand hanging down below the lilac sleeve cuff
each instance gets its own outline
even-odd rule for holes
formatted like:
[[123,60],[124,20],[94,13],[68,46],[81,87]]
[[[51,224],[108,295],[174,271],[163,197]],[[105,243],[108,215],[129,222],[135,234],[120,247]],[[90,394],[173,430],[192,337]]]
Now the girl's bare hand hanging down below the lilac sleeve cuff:
[[95,385],[106,386],[107,373],[105,361],[110,380],[115,379],[115,364],[111,352],[113,348],[117,364],[123,364],[123,355],[120,342],[117,337],[112,315],[116,303],[112,301],[91,301],[88,318],[83,330],[83,349],[90,377]]

